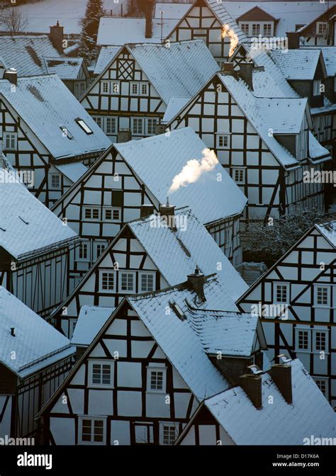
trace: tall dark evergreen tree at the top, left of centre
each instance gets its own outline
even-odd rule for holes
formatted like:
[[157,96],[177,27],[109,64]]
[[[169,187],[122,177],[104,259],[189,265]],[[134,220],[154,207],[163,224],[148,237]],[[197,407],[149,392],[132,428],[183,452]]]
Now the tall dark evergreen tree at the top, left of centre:
[[91,62],[97,56],[97,33],[99,20],[106,14],[103,0],[87,0],[85,16],[79,21],[82,26],[79,54]]

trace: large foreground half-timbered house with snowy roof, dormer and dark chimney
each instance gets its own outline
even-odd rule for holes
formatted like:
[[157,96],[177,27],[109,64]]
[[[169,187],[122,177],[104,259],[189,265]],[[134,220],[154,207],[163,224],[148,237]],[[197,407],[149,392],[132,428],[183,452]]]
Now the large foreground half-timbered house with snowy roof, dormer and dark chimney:
[[45,442],[171,445],[204,398],[262,365],[257,318],[218,311],[214,278],[125,298],[40,413]]

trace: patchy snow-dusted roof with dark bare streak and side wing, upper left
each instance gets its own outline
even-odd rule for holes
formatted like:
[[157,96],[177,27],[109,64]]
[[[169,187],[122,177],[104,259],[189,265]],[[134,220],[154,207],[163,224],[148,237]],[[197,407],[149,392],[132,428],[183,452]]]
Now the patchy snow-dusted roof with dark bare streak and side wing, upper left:
[[[76,79],[82,58],[67,58],[52,45],[47,35],[1,35],[0,61],[18,76],[57,73],[61,79]],[[55,62],[61,62],[54,67]]]

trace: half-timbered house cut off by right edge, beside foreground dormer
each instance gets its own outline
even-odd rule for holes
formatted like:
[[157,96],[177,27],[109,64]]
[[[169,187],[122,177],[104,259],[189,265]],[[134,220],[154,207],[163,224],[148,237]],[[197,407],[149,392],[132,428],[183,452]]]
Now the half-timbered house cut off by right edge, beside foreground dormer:
[[315,225],[237,302],[262,319],[269,358],[299,358],[336,404],[336,222]]

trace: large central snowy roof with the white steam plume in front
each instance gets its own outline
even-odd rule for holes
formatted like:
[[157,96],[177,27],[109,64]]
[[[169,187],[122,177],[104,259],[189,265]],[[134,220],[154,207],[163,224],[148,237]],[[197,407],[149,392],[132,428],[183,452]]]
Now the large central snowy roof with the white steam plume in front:
[[[118,143],[114,147],[161,204],[166,203],[174,177],[188,161],[201,161],[202,152],[206,149],[204,142],[191,128]],[[198,219],[207,224],[240,214],[247,198],[218,162],[194,183],[171,193],[169,202],[178,207],[189,205]]]

